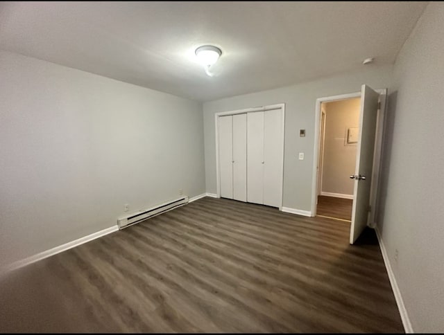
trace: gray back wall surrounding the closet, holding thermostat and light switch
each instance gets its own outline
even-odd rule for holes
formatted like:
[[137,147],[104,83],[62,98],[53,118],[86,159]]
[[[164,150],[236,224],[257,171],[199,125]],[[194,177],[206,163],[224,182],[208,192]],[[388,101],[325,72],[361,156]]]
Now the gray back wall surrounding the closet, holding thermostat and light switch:
[[[368,84],[374,89],[386,88],[391,82],[391,71],[391,65],[363,65],[362,70],[358,72],[343,73],[332,78],[290,87],[205,102],[203,104],[203,122],[207,192],[216,193],[214,114],[219,111],[232,111],[284,102],[284,206],[309,211],[316,98],[357,92],[361,90],[361,84]],[[305,137],[299,137],[299,129],[306,129]],[[303,161],[298,160],[298,152],[305,153]]]

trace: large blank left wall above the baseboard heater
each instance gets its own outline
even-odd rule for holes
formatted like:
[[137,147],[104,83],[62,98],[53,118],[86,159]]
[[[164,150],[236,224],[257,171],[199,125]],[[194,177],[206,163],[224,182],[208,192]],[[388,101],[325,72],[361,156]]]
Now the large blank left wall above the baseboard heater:
[[0,267],[205,192],[202,105],[0,53]]

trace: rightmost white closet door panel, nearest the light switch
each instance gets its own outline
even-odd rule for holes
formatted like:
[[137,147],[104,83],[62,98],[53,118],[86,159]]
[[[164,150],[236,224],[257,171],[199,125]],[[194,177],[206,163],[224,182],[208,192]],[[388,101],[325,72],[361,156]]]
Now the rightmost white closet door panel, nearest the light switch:
[[282,109],[264,111],[264,205],[282,206]]

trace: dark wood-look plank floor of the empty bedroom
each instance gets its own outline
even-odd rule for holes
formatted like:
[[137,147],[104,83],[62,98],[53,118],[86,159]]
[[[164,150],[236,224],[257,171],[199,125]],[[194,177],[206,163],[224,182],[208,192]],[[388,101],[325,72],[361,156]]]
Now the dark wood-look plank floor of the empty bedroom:
[[1,332],[403,332],[373,230],[203,198],[13,271]]

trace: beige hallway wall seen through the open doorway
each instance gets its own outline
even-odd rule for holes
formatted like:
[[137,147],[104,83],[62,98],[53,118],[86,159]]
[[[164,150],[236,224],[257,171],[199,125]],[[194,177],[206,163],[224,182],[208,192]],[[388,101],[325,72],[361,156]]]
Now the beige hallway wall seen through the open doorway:
[[325,141],[322,192],[353,195],[356,149],[347,144],[347,129],[359,127],[361,98],[323,103],[325,110]]

